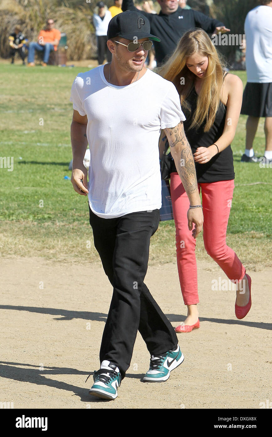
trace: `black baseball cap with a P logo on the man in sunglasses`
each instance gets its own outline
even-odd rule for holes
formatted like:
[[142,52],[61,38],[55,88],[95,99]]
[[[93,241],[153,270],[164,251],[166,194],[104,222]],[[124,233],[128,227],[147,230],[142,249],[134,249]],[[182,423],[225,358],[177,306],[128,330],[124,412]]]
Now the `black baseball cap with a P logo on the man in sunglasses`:
[[133,10],[121,12],[121,14],[117,14],[109,22],[107,37],[111,39],[116,36],[131,40],[135,39],[135,37],[138,39],[150,38],[160,42],[159,38],[150,34],[150,22],[148,19]]

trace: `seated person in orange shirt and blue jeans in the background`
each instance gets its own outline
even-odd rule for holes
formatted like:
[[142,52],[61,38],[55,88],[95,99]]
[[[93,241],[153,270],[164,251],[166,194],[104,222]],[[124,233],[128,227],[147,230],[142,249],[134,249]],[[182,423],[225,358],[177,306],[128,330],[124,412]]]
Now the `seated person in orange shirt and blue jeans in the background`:
[[54,29],[54,20],[49,18],[46,22],[46,28],[42,29],[38,36],[38,42],[30,42],[28,47],[28,66],[34,66],[35,50],[44,52],[43,66],[47,66],[51,50],[57,50],[58,43],[61,39],[61,32]]

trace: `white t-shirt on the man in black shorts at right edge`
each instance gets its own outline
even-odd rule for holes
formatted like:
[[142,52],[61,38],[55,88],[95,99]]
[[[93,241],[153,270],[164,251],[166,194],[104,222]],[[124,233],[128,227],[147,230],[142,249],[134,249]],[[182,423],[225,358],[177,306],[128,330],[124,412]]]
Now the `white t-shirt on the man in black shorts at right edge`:
[[247,81],[272,82],[272,7],[257,6],[245,19]]

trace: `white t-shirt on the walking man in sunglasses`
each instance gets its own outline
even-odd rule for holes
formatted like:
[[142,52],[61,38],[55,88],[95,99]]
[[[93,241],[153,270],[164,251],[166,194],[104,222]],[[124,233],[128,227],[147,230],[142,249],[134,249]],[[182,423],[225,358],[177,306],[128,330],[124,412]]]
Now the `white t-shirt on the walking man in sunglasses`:
[[107,82],[104,66],[80,73],[70,101],[87,115],[88,201],[103,218],[161,208],[160,131],[185,117],[173,83],[147,69],[137,81]]

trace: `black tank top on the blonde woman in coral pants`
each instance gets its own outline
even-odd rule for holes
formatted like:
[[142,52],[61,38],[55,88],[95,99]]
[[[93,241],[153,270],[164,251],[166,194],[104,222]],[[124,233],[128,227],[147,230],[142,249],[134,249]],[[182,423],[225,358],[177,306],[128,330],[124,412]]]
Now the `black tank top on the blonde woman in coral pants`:
[[[184,110],[184,115],[186,117],[186,120],[183,122],[184,131],[192,152],[195,153],[197,147],[209,147],[216,143],[218,138],[221,137],[224,131],[226,108],[224,104],[220,102],[213,126],[208,132],[204,132],[205,123],[197,129],[189,129],[192,122],[192,116],[197,108],[197,93],[194,88],[187,97],[187,103],[190,105],[191,113],[188,114],[189,111]],[[200,183],[211,183],[218,182],[219,180],[234,179],[235,173],[231,146],[229,145],[226,149],[222,150],[222,152],[213,156],[207,164],[195,163],[195,167],[197,182]],[[173,171],[177,171],[175,166]]]

